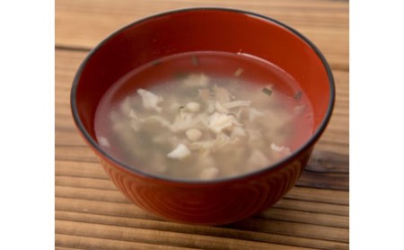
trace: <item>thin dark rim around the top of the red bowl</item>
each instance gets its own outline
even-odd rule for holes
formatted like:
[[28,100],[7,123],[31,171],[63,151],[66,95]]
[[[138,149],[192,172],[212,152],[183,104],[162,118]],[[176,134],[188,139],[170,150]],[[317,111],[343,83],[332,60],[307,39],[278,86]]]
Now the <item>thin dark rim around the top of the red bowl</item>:
[[[232,175],[232,176],[229,176],[229,177],[216,178],[216,179],[213,179],[213,180],[188,180],[188,179],[181,179],[181,178],[176,178],[176,177],[164,176],[162,174],[146,173],[146,172],[143,172],[143,171],[141,171],[139,169],[136,169],[134,167],[131,167],[130,165],[127,165],[127,164],[119,161],[119,159],[117,159],[117,158],[115,158],[113,156],[110,156],[110,154],[108,154],[101,147],[99,147],[96,140],[90,136],[87,129],[85,129],[85,127],[83,126],[83,122],[80,119],[80,116],[78,114],[77,105],[76,105],[76,102],[75,102],[76,93],[77,93],[77,87],[78,87],[78,84],[79,84],[79,79],[80,79],[80,77],[82,75],[83,68],[87,64],[88,60],[90,58],[92,58],[92,56],[97,52],[97,50],[101,49],[101,47],[104,44],[106,44],[109,40],[114,38],[116,35],[119,35],[120,32],[125,31],[125,30],[127,30],[127,29],[129,29],[129,28],[131,28],[133,26],[136,26],[136,25],[142,23],[142,22],[147,22],[147,21],[153,20],[154,18],[162,17],[162,16],[165,16],[165,15],[171,15],[171,14],[175,14],[175,13],[203,12],[203,11],[240,13],[240,14],[250,15],[250,16],[255,17],[255,18],[263,19],[264,21],[267,21],[267,22],[273,22],[273,23],[277,24],[278,26],[280,26],[281,28],[285,28],[287,31],[291,31],[295,36],[297,36],[299,39],[303,40],[303,42],[305,42],[311,49],[313,49],[313,51],[316,53],[318,58],[320,58],[321,64],[323,65],[324,69],[326,70],[328,80],[329,80],[328,81],[329,82],[329,103],[327,105],[327,111],[326,111],[324,117],[322,118],[320,126],[318,127],[318,129],[316,129],[312,133],[312,136],[308,140],[306,140],[306,142],[303,143],[303,145],[301,147],[298,147],[297,149],[294,150],[294,152],[292,152],[292,154],[282,158],[277,163],[272,164],[272,165],[267,165],[267,166],[262,167],[262,168],[260,168],[260,169],[258,169],[256,171],[247,172],[245,174]],[[259,14],[259,13],[253,13],[253,12],[245,11],[245,10],[241,10],[241,9],[232,9],[232,8],[224,8],[224,7],[194,7],[194,8],[174,9],[174,10],[171,10],[171,11],[162,12],[162,13],[156,13],[156,14],[146,16],[145,18],[136,20],[135,22],[130,22],[129,24],[123,26],[122,28],[119,28],[118,30],[113,31],[112,33],[110,33],[110,35],[108,37],[106,37],[104,40],[101,40],[101,42],[98,45],[96,45],[93,49],[91,49],[91,51],[83,59],[83,62],[81,63],[80,67],[78,67],[78,69],[77,69],[77,72],[75,74],[75,78],[73,80],[71,93],[70,93],[70,104],[71,104],[70,108],[71,108],[71,112],[72,112],[73,117],[74,117],[75,125],[79,129],[79,131],[82,133],[84,139],[87,140],[87,143],[89,143],[93,148],[96,149],[96,153],[101,154],[102,157],[108,159],[114,165],[119,166],[120,168],[123,168],[123,170],[126,170],[131,174],[140,175],[141,177],[144,177],[146,179],[154,179],[155,181],[162,181],[162,182],[165,182],[165,183],[200,185],[200,184],[214,184],[214,183],[230,183],[230,182],[237,182],[237,181],[244,180],[244,179],[250,179],[250,178],[253,178],[254,176],[259,176],[260,174],[263,174],[265,172],[273,171],[273,170],[275,170],[275,169],[277,169],[279,167],[282,167],[283,165],[285,165],[285,164],[287,164],[289,162],[292,162],[294,160],[295,156],[302,155],[307,150],[310,150],[310,148],[315,144],[315,142],[321,137],[321,134],[326,129],[326,127],[327,127],[327,125],[329,123],[331,114],[333,112],[334,105],[335,105],[335,95],[336,95],[335,81],[334,81],[334,77],[332,75],[332,70],[329,67],[329,63],[327,62],[327,59],[322,55],[320,49],[318,49],[312,43],[311,40],[306,38],[299,31],[294,30],[294,28],[286,25],[283,22],[279,22],[279,21],[277,21],[277,20],[275,20],[275,19],[273,19],[271,17],[265,16],[265,15]],[[94,150],[94,149],[92,149],[92,150]]]

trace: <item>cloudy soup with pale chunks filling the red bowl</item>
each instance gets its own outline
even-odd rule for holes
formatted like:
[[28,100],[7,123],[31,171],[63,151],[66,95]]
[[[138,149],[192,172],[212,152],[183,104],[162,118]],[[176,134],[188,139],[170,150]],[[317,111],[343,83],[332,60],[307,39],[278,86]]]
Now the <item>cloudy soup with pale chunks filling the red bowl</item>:
[[201,51],[127,73],[95,115],[101,148],[148,174],[213,180],[273,165],[311,137],[312,106],[281,68]]

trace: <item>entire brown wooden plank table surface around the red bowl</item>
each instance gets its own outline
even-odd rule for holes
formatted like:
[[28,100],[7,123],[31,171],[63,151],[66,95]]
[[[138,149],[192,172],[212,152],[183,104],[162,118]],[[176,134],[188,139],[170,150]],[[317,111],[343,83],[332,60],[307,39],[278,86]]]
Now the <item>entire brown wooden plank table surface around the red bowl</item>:
[[[245,9],[273,17],[312,40],[332,67],[337,103],[299,183],[273,208],[222,227],[163,221],[131,204],[79,137],[69,94],[83,58],[112,31],[150,14],[196,6]],[[57,249],[347,249],[348,2],[56,1]]]

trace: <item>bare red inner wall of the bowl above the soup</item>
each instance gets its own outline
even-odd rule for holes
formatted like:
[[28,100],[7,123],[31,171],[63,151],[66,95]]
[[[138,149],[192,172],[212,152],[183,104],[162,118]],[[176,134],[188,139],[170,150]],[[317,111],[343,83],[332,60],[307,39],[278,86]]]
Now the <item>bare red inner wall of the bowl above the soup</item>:
[[101,96],[133,68],[156,58],[202,50],[242,52],[283,68],[312,102],[314,129],[325,126],[333,103],[332,76],[310,41],[277,21],[252,13],[194,9],[132,23],[92,50],[72,89],[79,128],[95,141],[93,122]]

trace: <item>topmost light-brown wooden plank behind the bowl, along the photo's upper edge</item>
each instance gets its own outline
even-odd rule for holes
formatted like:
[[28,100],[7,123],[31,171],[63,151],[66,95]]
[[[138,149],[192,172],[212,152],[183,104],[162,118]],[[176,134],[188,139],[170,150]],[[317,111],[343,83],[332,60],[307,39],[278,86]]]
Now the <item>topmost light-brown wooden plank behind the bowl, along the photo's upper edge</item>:
[[312,40],[335,68],[348,67],[348,3],[340,1],[109,1],[58,0],[56,43],[92,48],[111,32],[167,10],[217,6],[260,13],[294,27]]

